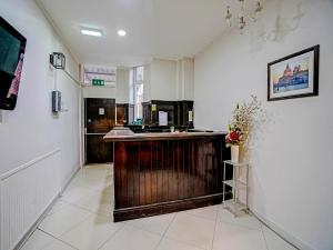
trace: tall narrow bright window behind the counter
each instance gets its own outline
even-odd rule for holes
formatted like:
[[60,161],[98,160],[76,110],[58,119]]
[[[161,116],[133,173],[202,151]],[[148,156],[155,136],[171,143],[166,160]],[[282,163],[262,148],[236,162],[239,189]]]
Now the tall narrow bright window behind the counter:
[[143,102],[143,66],[133,69],[133,101],[134,101],[134,119],[142,119]]

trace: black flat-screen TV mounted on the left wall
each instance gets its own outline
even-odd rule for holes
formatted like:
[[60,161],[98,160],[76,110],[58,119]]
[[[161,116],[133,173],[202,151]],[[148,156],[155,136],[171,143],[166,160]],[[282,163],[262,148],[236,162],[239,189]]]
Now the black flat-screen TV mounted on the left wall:
[[0,17],[0,109],[17,104],[27,39]]

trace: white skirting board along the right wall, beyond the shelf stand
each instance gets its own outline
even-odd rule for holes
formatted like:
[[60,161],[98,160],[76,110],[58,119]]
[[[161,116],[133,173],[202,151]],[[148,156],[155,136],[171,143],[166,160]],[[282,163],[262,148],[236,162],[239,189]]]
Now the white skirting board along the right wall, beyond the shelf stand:
[[264,218],[263,216],[261,216],[259,212],[253,211],[252,209],[250,209],[250,211],[262,223],[264,223],[268,228],[270,228],[272,231],[274,231],[278,236],[280,236],[283,240],[285,240],[290,244],[294,246],[297,249],[302,249],[302,250],[314,250],[313,248],[311,248],[310,246],[304,243],[302,240],[295,238],[294,236],[286,232],[285,230],[283,230],[281,227],[279,227],[274,222],[272,222],[272,221],[268,220],[266,218]]

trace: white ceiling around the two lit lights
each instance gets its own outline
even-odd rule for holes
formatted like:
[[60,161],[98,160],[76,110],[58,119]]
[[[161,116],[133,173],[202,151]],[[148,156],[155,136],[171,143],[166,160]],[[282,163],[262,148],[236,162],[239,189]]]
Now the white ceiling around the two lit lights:
[[[78,60],[89,64],[132,67],[152,58],[193,57],[225,29],[225,0],[37,1]],[[103,36],[83,36],[81,27]],[[128,36],[118,37],[119,29]]]

